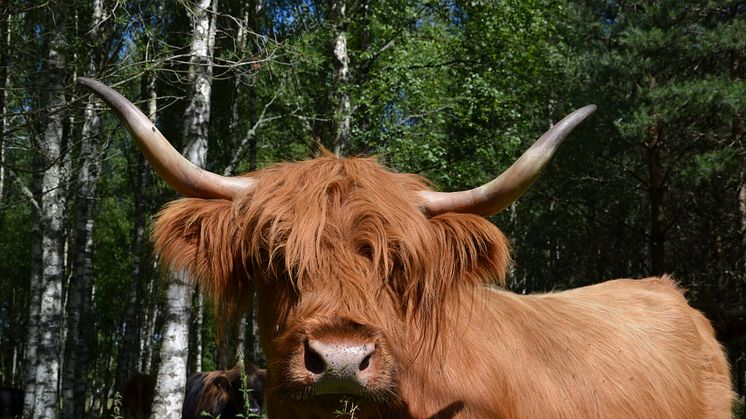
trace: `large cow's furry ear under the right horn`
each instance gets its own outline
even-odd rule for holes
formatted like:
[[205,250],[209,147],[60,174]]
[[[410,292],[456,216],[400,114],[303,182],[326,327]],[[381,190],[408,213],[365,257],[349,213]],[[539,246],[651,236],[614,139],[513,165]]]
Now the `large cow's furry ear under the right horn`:
[[472,214],[446,213],[431,219],[443,259],[442,274],[458,283],[493,282],[505,285],[511,264],[510,244],[489,220]]

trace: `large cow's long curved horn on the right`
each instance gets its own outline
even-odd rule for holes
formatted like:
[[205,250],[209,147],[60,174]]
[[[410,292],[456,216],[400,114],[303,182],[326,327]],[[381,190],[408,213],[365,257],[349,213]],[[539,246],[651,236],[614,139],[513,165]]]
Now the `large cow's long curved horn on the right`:
[[445,212],[497,214],[523,195],[539,176],[562,141],[596,110],[588,105],[567,115],[541,136],[512,166],[489,183],[467,191],[422,191],[424,210],[430,215]]

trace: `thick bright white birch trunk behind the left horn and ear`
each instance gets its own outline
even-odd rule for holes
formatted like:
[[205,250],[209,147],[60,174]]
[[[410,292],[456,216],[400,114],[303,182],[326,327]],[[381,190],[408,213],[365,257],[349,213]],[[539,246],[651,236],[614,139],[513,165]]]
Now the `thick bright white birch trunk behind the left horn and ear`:
[[[184,111],[184,155],[204,167],[212,90],[212,53],[217,0],[199,0],[192,8],[193,38],[189,80],[191,91]],[[184,273],[170,275],[161,363],[158,369],[153,419],[180,417],[189,354],[189,317],[192,287]],[[198,354],[201,357],[201,354]]]

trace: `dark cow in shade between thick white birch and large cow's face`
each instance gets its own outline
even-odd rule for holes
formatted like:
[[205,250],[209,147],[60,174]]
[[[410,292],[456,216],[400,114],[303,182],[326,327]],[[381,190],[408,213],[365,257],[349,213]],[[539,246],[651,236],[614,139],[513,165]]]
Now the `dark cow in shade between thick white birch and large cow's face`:
[[250,413],[260,414],[264,406],[266,371],[249,364],[245,373],[245,390],[242,390],[241,370],[238,367],[193,374],[187,380],[181,419],[199,419],[203,412],[208,417],[220,419],[246,417],[244,395],[249,397]]

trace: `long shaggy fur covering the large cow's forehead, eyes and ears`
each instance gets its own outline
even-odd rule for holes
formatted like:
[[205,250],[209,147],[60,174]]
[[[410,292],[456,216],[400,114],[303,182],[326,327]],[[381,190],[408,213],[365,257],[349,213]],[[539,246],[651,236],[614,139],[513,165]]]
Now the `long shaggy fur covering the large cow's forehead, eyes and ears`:
[[247,302],[253,280],[288,280],[299,296],[330,278],[350,292],[372,282],[417,312],[504,278],[510,257],[500,230],[475,215],[425,216],[417,192],[427,185],[416,175],[326,154],[250,176],[256,188],[234,201],[172,202],[153,233],[162,257],[191,270],[229,314]]

